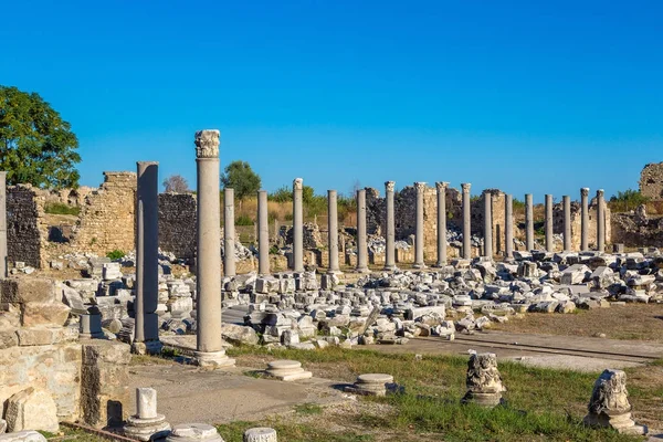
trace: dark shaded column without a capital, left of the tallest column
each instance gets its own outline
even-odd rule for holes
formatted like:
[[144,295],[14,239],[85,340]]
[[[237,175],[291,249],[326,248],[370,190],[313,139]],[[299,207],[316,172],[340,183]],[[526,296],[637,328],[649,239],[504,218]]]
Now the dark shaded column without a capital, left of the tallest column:
[[136,336],[131,350],[161,351],[159,341],[159,164],[138,161],[136,187]]

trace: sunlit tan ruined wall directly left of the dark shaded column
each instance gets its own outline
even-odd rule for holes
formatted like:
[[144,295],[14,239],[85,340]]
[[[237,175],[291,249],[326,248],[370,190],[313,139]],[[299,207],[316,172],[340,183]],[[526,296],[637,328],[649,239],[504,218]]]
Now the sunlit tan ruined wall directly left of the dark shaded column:
[[134,250],[135,201],[135,172],[104,172],[104,183],[85,199],[72,245],[98,254]]

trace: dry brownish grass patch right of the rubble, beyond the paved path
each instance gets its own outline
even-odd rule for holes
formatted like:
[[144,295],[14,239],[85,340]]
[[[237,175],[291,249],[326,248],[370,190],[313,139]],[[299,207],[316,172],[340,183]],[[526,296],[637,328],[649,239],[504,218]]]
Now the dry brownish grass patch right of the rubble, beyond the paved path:
[[527,314],[494,329],[565,336],[597,336],[663,343],[663,304],[628,304],[610,308],[578,311],[572,315]]

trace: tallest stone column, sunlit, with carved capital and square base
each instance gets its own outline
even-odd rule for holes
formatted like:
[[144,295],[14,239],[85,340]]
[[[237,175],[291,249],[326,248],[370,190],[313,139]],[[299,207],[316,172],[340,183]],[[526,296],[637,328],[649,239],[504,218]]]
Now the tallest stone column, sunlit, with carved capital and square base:
[[198,332],[196,362],[203,367],[234,365],[221,339],[221,220],[219,204],[219,130],[196,133],[198,175],[197,277]]

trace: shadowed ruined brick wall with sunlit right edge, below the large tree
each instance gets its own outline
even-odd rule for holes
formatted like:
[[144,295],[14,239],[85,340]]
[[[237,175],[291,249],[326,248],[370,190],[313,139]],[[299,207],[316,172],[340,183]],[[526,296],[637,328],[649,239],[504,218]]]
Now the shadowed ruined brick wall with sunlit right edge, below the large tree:
[[10,263],[22,261],[38,269],[44,265],[42,249],[48,239],[44,193],[30,185],[7,189],[7,249]]

